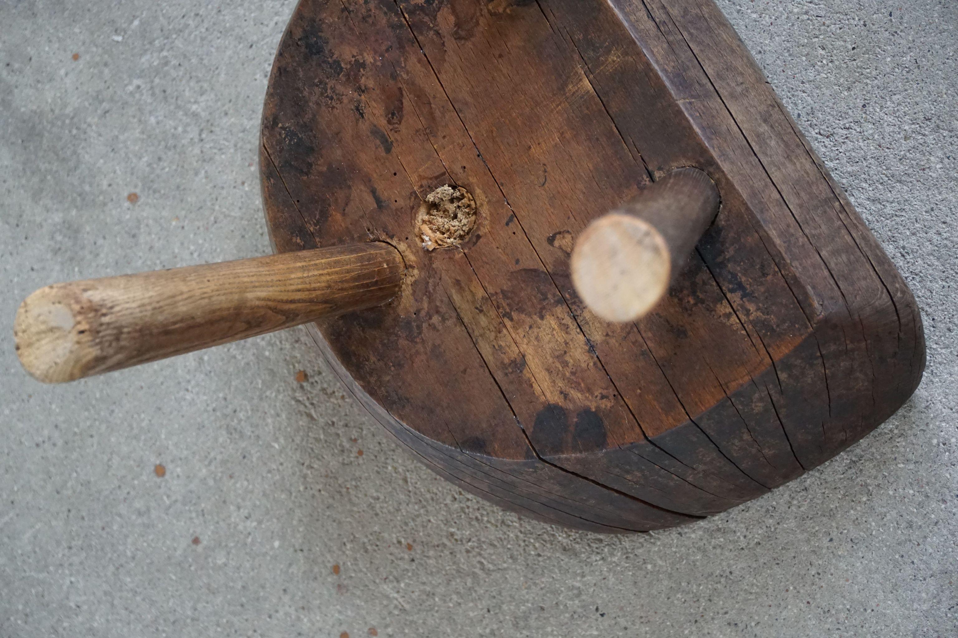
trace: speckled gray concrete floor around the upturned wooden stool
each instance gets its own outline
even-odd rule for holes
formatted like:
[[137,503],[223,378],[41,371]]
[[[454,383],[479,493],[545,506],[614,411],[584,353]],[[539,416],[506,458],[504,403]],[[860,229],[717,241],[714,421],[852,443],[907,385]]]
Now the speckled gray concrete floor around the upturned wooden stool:
[[958,634],[958,3],[720,0],[913,286],[928,369],[824,467],[630,537],[446,484],[301,330],[20,370],[40,285],[268,251],[257,127],[293,4],[0,0],[0,636]]

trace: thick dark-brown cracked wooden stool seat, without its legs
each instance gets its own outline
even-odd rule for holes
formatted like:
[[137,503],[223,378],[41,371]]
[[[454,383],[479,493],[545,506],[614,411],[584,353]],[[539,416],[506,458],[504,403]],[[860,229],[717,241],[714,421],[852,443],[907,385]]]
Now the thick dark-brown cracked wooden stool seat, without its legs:
[[[681,167],[722,206],[669,294],[604,322],[595,217]],[[915,301],[710,0],[304,0],[262,120],[276,250],[384,239],[399,298],[320,350],[423,463],[520,513],[671,527],[855,443],[917,386]],[[458,248],[415,219],[473,195]]]

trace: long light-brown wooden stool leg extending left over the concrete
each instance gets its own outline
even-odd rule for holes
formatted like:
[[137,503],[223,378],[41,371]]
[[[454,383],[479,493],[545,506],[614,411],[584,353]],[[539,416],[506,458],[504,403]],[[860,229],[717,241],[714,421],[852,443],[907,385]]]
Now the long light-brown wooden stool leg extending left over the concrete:
[[31,375],[57,383],[388,302],[402,257],[383,242],[40,288],[13,326]]

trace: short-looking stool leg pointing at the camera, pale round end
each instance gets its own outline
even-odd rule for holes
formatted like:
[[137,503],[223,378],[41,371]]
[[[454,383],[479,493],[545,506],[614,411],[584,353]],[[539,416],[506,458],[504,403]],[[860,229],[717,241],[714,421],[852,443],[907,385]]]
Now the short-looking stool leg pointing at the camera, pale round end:
[[646,316],[689,261],[719,203],[707,174],[676,169],[595,219],[572,250],[572,283],[582,301],[606,321]]

